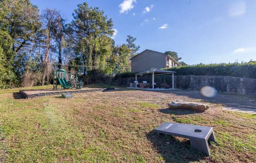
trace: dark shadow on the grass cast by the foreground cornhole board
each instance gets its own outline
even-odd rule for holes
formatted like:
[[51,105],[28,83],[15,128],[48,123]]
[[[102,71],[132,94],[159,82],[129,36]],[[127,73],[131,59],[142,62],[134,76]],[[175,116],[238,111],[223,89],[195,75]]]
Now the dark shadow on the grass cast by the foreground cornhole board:
[[154,148],[165,162],[189,163],[207,159],[205,154],[190,147],[189,140],[179,141],[173,136],[157,134],[154,131],[146,134],[146,137],[152,142]]

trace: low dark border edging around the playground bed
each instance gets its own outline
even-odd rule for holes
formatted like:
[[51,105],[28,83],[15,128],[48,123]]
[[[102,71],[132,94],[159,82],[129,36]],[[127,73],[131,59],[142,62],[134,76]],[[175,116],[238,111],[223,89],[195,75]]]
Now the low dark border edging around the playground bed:
[[41,96],[47,95],[55,95],[61,93],[86,93],[86,92],[95,92],[95,91],[104,91],[104,90],[113,90],[114,88],[98,88],[98,89],[88,89],[88,90],[70,90],[70,91],[52,91],[52,92],[44,92],[44,93],[35,93],[35,94],[27,94],[26,91],[49,91],[49,89],[27,89],[27,90],[20,90],[20,93],[25,96],[26,99],[28,98],[36,98]]

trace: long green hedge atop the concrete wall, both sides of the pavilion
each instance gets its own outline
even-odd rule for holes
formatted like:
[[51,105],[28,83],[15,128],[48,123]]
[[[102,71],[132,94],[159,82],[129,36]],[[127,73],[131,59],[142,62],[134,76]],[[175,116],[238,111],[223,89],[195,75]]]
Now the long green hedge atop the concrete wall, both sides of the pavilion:
[[[256,78],[256,62],[197,64],[173,67],[166,70],[175,71],[177,72],[176,75],[211,75]],[[135,73],[126,72],[117,74],[115,78],[130,78],[134,76]]]

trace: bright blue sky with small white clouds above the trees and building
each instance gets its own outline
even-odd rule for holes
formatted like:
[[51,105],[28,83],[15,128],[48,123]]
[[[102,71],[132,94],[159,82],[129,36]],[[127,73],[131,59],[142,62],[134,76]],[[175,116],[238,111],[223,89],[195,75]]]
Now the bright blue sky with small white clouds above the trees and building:
[[[83,0],[31,0],[68,21]],[[112,18],[115,42],[176,51],[188,64],[256,60],[256,0],[86,0]]]

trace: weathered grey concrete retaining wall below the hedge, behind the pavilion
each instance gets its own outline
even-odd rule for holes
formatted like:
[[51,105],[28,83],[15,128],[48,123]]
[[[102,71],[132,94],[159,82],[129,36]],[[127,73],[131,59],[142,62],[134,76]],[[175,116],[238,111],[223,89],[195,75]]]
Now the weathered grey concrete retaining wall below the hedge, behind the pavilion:
[[[152,82],[151,76],[137,77],[139,82]],[[123,78],[115,81],[116,85],[128,87],[135,81],[134,78]],[[157,84],[166,83],[172,85],[172,77],[155,76]],[[256,79],[240,78],[234,76],[197,76],[197,75],[177,75],[174,76],[174,87],[179,89],[199,90],[203,86],[214,87],[218,92],[256,95]]]

